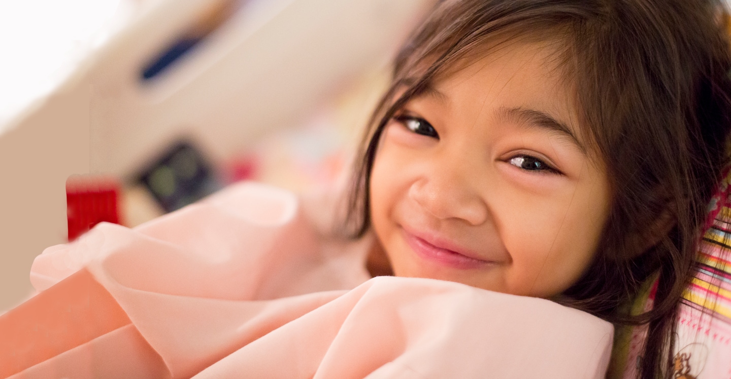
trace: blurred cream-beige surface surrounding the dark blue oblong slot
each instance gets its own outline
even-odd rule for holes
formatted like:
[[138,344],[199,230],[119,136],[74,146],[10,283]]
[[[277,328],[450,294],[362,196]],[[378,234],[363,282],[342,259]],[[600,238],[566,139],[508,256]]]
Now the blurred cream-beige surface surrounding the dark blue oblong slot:
[[[155,0],[158,1],[158,0]],[[31,292],[35,256],[66,236],[72,174],[126,177],[181,134],[213,158],[296,123],[385,64],[431,0],[250,0],[155,85],[140,66],[213,0],[159,0],[0,134],[0,311]]]

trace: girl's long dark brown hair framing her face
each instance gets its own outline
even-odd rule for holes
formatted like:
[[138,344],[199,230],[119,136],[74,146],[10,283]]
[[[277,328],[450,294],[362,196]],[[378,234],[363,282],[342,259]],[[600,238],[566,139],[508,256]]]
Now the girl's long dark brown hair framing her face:
[[[607,167],[613,194],[594,262],[561,301],[614,323],[649,324],[640,377],[669,375],[675,313],[727,164],[726,23],[712,0],[439,1],[395,59],[355,169],[349,226],[358,236],[370,227],[379,137],[409,99],[498,38],[558,42],[584,137]],[[648,248],[647,240],[656,243]],[[620,305],[656,272],[654,308],[623,313]]]

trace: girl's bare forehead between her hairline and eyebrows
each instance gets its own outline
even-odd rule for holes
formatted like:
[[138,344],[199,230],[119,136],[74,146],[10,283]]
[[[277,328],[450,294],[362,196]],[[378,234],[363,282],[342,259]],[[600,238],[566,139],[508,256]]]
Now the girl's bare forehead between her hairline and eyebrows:
[[566,131],[591,161],[601,162],[580,122],[567,71],[555,44],[509,41],[455,62],[425,87],[420,99],[436,102],[432,104],[444,120],[548,120],[528,123],[560,126],[554,129]]

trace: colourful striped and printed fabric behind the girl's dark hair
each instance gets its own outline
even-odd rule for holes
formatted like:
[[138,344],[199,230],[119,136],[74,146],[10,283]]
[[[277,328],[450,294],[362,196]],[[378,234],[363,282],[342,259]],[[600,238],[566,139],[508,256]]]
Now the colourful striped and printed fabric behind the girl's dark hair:
[[[731,170],[708,207],[697,267],[678,312],[673,379],[731,379]],[[632,313],[651,310],[655,280]],[[607,378],[637,378],[646,326],[618,328]]]

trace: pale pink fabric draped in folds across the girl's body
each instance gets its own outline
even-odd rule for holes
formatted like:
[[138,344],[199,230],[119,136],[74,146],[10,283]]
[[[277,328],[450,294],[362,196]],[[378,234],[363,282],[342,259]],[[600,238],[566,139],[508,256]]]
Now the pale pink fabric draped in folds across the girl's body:
[[371,279],[371,241],[323,232],[313,220],[330,208],[306,205],[320,215],[243,183],[48,248],[31,269],[39,291],[86,268],[132,324],[11,378],[604,377],[611,324],[545,299]]

